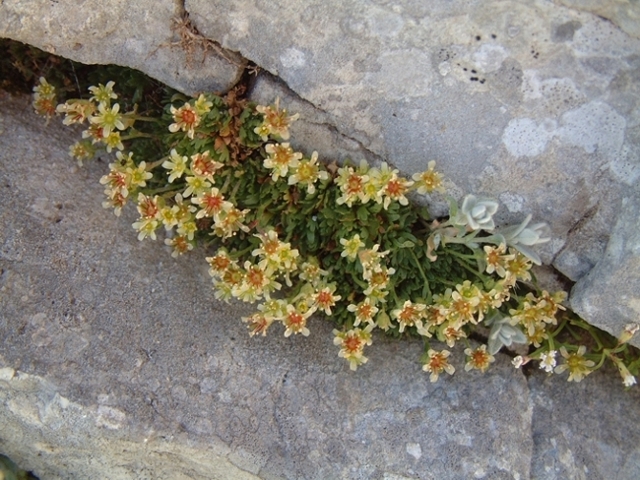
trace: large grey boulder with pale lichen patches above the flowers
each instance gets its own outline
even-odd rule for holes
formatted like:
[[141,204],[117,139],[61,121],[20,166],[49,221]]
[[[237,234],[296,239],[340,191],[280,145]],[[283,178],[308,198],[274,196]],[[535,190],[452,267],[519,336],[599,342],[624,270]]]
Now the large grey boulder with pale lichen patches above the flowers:
[[637,184],[640,41],[593,14],[542,0],[185,7],[372,153],[405,172],[435,158],[459,193],[500,198],[503,220],[548,219],[543,258],[573,280]]

